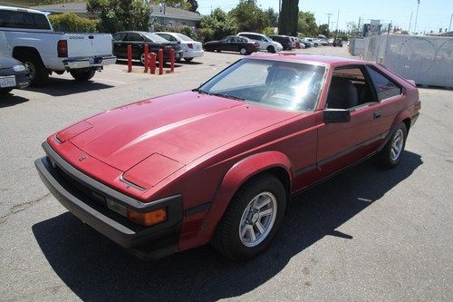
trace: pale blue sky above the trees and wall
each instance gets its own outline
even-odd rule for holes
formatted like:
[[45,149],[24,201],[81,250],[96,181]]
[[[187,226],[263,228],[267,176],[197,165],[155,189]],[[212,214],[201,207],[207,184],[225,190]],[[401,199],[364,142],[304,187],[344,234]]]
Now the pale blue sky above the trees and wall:
[[[273,7],[278,11],[279,0],[257,0],[262,9]],[[453,14],[453,0],[420,0],[419,16],[417,18],[417,32],[434,33],[448,29],[450,18]],[[222,8],[229,11],[239,3],[239,0],[198,0],[198,12],[208,15],[211,8]],[[414,25],[417,13],[417,0],[299,0],[299,10],[310,11],[316,17],[317,24],[327,24],[328,15],[330,18],[331,30],[336,28],[337,15],[338,28],[347,29],[347,22],[359,22],[363,20],[368,23],[371,19],[381,20],[382,24],[393,24],[403,30],[414,32]],[[410,24],[410,13],[412,22]],[[451,24],[453,31],[453,24]]]

